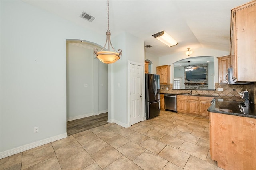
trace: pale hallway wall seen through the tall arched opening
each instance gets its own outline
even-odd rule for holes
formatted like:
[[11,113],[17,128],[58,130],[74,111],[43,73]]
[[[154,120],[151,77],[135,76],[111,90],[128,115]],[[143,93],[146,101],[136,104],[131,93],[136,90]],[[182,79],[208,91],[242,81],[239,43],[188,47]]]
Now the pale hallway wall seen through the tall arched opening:
[[108,111],[108,67],[94,58],[93,49],[67,44],[68,121]]

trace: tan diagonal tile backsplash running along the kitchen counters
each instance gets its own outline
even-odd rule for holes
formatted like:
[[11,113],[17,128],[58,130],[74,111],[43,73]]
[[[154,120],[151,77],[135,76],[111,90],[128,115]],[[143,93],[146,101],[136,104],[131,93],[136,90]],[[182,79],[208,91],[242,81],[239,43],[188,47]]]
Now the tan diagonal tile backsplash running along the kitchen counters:
[[[172,89],[172,84],[170,85],[160,85],[160,93],[188,93],[188,90],[179,90],[179,89]],[[248,85],[228,85],[228,84],[219,84],[215,83],[215,89],[217,88],[223,88],[223,91],[217,91],[217,90],[199,90],[199,89],[192,89],[192,93],[194,94],[204,94],[204,95],[219,95],[219,96],[239,96],[239,92],[246,90],[246,87]],[[168,90],[166,88],[168,87]],[[254,93],[250,98],[255,97],[255,90],[256,86],[249,85],[247,89],[250,89],[249,96]],[[250,99],[252,100],[252,99]],[[255,100],[254,100],[255,101]]]

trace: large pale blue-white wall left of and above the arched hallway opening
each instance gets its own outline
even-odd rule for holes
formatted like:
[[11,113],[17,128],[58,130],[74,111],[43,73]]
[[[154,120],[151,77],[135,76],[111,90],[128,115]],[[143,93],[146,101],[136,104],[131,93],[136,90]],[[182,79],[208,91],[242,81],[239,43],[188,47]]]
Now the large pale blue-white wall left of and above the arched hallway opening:
[[22,1],[0,3],[2,158],[66,137],[66,39],[106,36]]

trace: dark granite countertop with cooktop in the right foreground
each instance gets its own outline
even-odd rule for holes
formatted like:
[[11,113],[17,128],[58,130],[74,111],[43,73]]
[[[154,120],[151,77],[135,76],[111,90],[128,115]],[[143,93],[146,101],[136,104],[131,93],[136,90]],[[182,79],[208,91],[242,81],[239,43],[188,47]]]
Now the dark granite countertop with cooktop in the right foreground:
[[241,97],[215,98],[209,107],[209,112],[251,117],[256,119],[256,105],[254,103],[244,103]]

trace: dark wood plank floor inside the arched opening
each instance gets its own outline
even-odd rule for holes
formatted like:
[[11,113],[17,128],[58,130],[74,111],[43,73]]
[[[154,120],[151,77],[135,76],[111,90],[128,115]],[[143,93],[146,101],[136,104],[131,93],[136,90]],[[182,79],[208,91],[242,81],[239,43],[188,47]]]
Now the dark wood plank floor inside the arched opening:
[[107,124],[108,112],[67,122],[68,136]]

